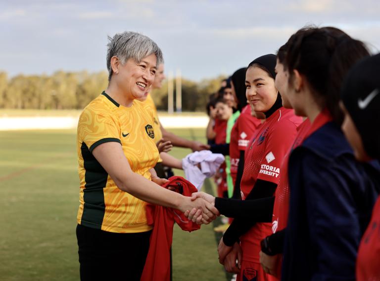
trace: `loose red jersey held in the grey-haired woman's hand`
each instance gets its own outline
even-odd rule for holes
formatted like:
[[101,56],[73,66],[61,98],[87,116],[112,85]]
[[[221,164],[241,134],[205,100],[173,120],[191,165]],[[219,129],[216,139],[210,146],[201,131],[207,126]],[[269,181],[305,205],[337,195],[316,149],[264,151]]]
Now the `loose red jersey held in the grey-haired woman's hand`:
[[[184,196],[191,196],[198,190],[190,181],[182,176],[172,176],[162,187],[174,187],[175,192]],[[146,257],[144,270],[142,271],[141,281],[169,281],[170,280],[170,247],[173,238],[174,222],[182,230],[192,231],[200,228],[189,221],[181,211],[157,206],[146,205],[146,218],[148,225],[153,225],[150,235],[149,252]]]

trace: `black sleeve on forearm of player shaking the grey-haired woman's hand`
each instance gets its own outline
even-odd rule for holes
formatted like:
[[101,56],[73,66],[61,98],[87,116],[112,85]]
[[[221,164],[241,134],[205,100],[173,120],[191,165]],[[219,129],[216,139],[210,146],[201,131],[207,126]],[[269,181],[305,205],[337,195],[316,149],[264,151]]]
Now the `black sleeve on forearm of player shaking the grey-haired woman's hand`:
[[215,208],[229,218],[242,218],[260,223],[271,223],[274,197],[254,200],[215,198]]

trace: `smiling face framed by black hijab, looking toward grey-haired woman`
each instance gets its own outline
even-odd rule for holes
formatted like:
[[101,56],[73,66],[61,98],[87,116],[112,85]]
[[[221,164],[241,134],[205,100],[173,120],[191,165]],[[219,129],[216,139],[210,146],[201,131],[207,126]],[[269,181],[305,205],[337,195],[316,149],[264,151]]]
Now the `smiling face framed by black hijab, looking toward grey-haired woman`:
[[257,66],[247,69],[245,87],[246,98],[255,112],[267,112],[277,100],[275,80]]

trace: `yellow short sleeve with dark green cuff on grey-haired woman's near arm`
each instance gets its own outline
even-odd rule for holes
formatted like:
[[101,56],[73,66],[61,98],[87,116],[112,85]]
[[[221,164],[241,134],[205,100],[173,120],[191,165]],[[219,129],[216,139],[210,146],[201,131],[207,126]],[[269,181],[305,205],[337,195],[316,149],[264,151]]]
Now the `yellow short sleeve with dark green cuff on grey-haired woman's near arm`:
[[90,152],[105,142],[121,144],[120,128],[111,114],[107,112],[98,113],[89,108],[85,109],[79,118],[78,135],[80,141],[87,145]]

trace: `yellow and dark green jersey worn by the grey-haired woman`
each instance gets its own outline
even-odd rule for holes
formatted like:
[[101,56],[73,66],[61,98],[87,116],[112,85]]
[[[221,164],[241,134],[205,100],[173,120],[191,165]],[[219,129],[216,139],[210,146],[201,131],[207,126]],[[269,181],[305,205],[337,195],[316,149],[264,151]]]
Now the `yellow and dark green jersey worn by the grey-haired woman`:
[[123,107],[105,92],[82,112],[78,123],[80,206],[78,224],[109,232],[143,232],[147,225],[146,202],[120,190],[92,155],[105,142],[118,142],[131,169],[150,179],[149,169],[158,161],[150,108],[134,101]]

